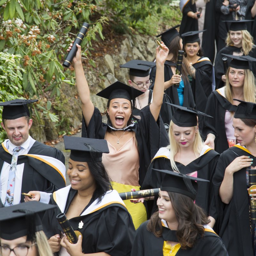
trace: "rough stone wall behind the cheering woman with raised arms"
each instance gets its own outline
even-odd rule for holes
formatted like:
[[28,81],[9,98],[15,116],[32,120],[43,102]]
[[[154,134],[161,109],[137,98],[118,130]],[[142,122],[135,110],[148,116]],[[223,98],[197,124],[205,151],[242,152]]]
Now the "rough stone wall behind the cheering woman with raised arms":
[[[119,68],[119,65],[130,60],[155,59],[156,41],[150,36],[130,36],[119,44],[115,53],[106,53],[103,57],[93,59],[96,68],[84,67],[84,73],[91,91],[91,100],[101,113],[106,112],[107,100],[96,96],[96,93],[106,88],[117,80],[127,84],[129,75],[127,68]],[[68,132],[72,127],[81,125],[82,109],[75,86],[63,84],[61,95],[56,104],[52,104],[51,111],[59,116],[59,123],[41,119],[40,123],[34,118],[30,129],[30,135],[38,141],[54,140],[59,133]],[[66,127],[66,128],[64,128]]]

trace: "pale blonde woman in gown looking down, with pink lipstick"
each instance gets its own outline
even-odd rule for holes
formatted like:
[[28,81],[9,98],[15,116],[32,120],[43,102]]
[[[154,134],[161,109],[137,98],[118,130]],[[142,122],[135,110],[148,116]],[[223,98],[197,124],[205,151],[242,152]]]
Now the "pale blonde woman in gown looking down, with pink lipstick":
[[213,227],[217,216],[215,215],[215,207],[213,207],[214,198],[212,198],[211,180],[219,154],[209,146],[204,145],[197,125],[197,115],[201,117],[207,117],[208,115],[191,108],[173,106],[177,110],[170,123],[170,145],[160,148],[156,153],[148,168],[142,188],[160,187],[164,177],[161,173],[155,172],[155,169],[170,170],[210,180],[210,183],[207,184],[198,182],[199,193],[195,202],[204,209],[211,220],[210,225]]

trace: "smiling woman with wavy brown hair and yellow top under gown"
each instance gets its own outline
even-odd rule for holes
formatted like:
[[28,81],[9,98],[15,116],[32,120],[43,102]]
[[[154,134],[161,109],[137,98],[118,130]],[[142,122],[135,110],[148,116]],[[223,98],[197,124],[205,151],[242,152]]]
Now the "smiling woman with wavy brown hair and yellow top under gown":
[[138,228],[131,256],[227,256],[220,237],[207,225],[204,211],[194,204],[198,186],[195,180],[207,180],[157,171],[165,174],[157,199],[158,211]]

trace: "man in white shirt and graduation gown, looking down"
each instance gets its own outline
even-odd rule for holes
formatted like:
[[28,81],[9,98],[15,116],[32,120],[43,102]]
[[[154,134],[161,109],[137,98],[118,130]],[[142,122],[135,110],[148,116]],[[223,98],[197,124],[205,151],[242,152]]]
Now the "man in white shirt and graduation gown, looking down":
[[[33,120],[29,118],[28,105],[35,101],[16,99],[0,103],[4,106],[1,125],[8,137],[0,145],[0,207],[7,206],[6,196],[13,196],[12,204],[24,202],[21,193],[29,191],[40,191],[40,202],[48,204],[50,194],[66,185],[62,152],[29,136]],[[13,149],[19,146],[15,179],[12,179],[15,185],[13,193],[8,195]]]

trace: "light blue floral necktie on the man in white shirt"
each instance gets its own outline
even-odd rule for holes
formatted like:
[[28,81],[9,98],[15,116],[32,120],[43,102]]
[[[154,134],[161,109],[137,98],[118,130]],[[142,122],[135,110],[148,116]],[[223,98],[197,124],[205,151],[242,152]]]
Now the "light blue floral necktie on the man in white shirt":
[[17,160],[18,160],[18,153],[21,149],[23,148],[20,146],[13,149],[12,163],[11,163],[10,172],[9,172],[9,179],[7,184],[7,191],[6,191],[4,206],[13,205],[15,172],[16,172],[16,166],[17,166]]

